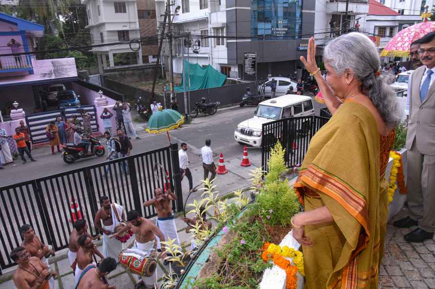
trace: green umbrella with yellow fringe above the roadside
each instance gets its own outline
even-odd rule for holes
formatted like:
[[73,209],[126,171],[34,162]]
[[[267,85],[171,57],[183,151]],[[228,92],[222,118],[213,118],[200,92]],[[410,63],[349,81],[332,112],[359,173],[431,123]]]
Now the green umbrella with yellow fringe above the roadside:
[[151,115],[148,120],[146,131],[149,133],[166,132],[168,134],[169,144],[171,137],[169,131],[178,128],[184,123],[184,116],[174,109],[161,109]]

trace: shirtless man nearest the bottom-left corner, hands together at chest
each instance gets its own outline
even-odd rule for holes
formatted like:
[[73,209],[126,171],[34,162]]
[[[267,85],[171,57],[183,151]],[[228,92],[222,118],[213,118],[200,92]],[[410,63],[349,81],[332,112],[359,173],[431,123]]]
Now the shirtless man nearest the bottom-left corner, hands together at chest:
[[12,260],[18,263],[14,273],[14,284],[18,289],[49,289],[48,278],[56,276],[56,271],[48,271],[47,264],[40,258],[30,256],[24,247],[18,247],[10,253]]

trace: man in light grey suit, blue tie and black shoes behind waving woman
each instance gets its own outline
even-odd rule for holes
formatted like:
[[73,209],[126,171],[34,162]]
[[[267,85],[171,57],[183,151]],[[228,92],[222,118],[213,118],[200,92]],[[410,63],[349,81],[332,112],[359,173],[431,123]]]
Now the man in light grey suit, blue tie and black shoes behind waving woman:
[[404,236],[415,243],[432,239],[435,232],[435,32],[421,38],[418,54],[423,66],[413,72],[409,84],[406,136],[409,216],[394,222],[399,228],[418,226]]

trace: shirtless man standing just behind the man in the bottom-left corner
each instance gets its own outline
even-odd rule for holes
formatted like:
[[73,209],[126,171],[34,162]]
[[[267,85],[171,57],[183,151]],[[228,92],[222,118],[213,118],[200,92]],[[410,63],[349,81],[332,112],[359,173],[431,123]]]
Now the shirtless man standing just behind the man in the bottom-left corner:
[[[32,257],[38,257],[48,267],[48,256],[54,255],[54,250],[48,248],[47,245],[42,244],[40,238],[35,234],[32,226],[24,224],[19,229],[20,235],[23,238],[21,247],[24,247]],[[45,257],[47,256],[47,257]],[[54,279],[50,279],[50,289],[54,289]]]

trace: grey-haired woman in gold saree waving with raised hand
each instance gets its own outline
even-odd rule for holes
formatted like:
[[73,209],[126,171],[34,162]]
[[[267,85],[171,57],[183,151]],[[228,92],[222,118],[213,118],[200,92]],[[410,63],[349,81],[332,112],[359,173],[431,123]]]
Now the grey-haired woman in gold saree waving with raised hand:
[[302,244],[306,287],[378,288],[388,211],[381,180],[400,111],[378,75],[379,56],[368,37],[350,33],[328,43],[326,80],[315,54],[312,38],[301,61],[333,116],[311,140],[295,184],[305,206],[292,225]]

